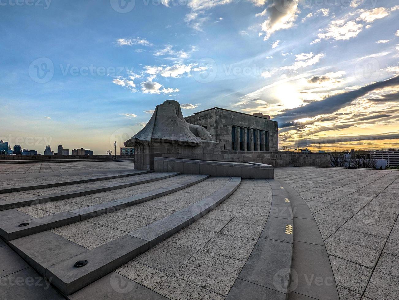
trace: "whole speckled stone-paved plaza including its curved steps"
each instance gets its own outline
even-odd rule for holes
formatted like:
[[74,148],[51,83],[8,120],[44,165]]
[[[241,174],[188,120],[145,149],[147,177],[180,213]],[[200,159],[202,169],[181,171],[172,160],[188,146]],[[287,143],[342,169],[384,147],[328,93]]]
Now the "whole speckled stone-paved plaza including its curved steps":
[[398,299],[399,172],[274,172],[0,165],[0,298]]

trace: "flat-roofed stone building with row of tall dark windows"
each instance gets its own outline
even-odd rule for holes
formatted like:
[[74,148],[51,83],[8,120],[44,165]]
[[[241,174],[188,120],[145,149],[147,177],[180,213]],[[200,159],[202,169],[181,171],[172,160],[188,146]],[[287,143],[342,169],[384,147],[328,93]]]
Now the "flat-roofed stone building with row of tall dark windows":
[[277,122],[262,113],[253,115],[224,108],[210,108],[184,118],[207,129],[220,150],[278,151]]

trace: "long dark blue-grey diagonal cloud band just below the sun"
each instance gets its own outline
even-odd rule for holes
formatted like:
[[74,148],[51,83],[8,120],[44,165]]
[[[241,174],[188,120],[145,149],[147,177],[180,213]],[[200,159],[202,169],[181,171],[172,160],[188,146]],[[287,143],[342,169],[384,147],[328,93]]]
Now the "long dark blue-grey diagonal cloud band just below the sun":
[[361,96],[365,96],[373,90],[397,85],[399,85],[399,76],[375,82],[356,90],[336,94],[323,100],[309,103],[305,106],[285,110],[282,114],[277,115],[275,120],[298,120],[301,118],[315,117],[321,114],[331,114],[340,108],[348,106],[352,101]]

